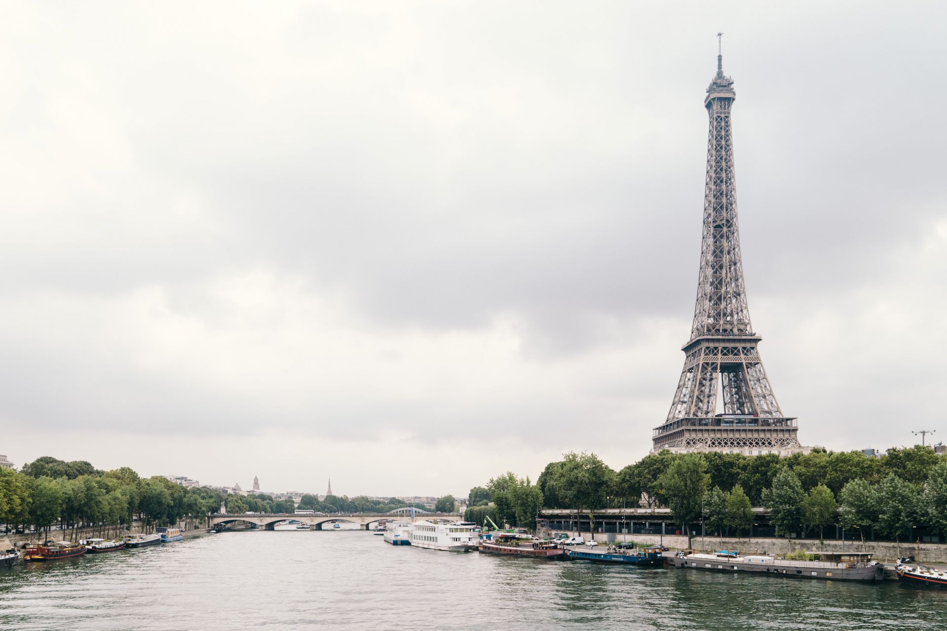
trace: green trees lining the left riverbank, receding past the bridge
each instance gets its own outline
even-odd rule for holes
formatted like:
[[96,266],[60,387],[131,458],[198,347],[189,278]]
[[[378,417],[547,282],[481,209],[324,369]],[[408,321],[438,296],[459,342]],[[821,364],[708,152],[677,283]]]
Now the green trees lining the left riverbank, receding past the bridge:
[[[140,477],[122,466],[102,471],[85,461],[64,462],[51,456],[25,464],[21,471],[0,467],[0,524],[4,531],[32,526],[41,539],[57,525],[71,531],[98,529],[98,535],[125,532],[134,520],[147,529],[154,526],[197,528],[208,515],[220,513],[226,498],[228,513],[293,513],[293,500],[276,500],[264,494],[227,495],[204,487],[186,488],[162,476]],[[451,499],[453,502],[453,498]],[[303,496],[300,508],[323,513],[386,513],[408,504],[402,500]],[[415,504],[421,508],[420,504]],[[453,510],[453,506],[452,509]]]

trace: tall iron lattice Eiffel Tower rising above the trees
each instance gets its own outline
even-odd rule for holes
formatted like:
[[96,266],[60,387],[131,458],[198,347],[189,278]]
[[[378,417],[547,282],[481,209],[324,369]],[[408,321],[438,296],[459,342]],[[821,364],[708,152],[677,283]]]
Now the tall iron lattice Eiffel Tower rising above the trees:
[[[677,392],[668,419],[654,429],[652,451],[789,455],[806,450],[796,439],[795,417],[779,409],[746,304],[730,127],[736,96],[718,48],[717,74],[704,100],[710,131],[694,324],[682,348],[686,358]],[[721,413],[718,390],[724,399]]]

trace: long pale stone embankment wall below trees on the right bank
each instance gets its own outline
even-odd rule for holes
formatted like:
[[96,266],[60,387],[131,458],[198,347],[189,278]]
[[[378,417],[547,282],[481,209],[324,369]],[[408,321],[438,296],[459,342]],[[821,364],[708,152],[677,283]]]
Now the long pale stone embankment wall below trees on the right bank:
[[[561,531],[556,531],[561,532]],[[588,541],[589,533],[572,532],[572,536],[584,536]],[[623,541],[634,541],[645,545],[658,544],[662,541],[664,545],[671,550],[684,550],[688,547],[688,537],[684,535],[605,535],[596,533],[595,538],[599,544],[608,541],[608,536],[614,536],[616,543]],[[742,538],[736,537],[717,537],[697,535],[690,540],[694,550],[706,551],[715,550],[739,550],[742,554],[785,554],[786,552],[795,552],[801,550],[804,552],[843,552],[842,542],[834,539],[826,539],[824,543],[819,543],[818,539],[786,539],[784,537],[765,537],[765,538]],[[875,560],[894,563],[902,556],[913,554],[914,557],[924,563],[947,563],[947,544],[944,543],[902,543],[900,546],[893,541],[867,541],[862,546],[861,541],[846,541],[844,552],[874,552]]]

